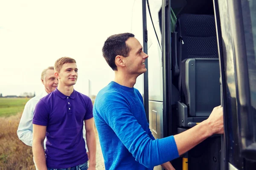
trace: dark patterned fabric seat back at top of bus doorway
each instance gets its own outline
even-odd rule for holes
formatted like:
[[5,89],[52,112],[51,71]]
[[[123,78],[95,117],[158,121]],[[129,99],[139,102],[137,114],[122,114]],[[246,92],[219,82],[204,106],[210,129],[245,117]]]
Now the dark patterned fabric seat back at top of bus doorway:
[[182,14],[178,18],[177,31],[181,42],[179,61],[188,58],[218,58],[214,15]]

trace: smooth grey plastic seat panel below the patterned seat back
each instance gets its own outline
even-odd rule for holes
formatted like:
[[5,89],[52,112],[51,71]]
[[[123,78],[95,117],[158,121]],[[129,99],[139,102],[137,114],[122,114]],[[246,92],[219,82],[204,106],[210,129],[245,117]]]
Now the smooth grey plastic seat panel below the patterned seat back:
[[189,116],[209,116],[212,109],[221,104],[218,59],[185,59],[181,65],[185,70],[181,72],[181,83]]

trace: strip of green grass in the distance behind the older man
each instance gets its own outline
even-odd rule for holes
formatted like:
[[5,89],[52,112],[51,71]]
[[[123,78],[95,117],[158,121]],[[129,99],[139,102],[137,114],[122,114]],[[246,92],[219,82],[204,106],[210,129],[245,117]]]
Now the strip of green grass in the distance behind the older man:
[[22,112],[29,98],[0,98],[0,117]]

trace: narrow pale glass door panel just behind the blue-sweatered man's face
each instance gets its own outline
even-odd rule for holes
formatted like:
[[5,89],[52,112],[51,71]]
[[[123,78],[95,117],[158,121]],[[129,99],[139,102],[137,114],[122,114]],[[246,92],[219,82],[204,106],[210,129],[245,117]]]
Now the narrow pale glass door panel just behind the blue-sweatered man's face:
[[[163,138],[163,67],[161,50],[161,31],[158,11],[162,6],[160,0],[145,0],[144,30],[147,32],[148,51],[148,123],[155,139]],[[161,166],[154,170],[162,170]]]

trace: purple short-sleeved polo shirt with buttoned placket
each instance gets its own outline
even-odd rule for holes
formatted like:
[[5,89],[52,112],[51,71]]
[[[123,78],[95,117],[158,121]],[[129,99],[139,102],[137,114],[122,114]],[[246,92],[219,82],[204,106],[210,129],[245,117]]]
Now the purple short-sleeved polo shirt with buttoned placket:
[[88,160],[83,121],[92,117],[91,99],[75,90],[66,96],[56,88],[40,99],[35,107],[33,124],[47,126],[47,167],[73,167]]

